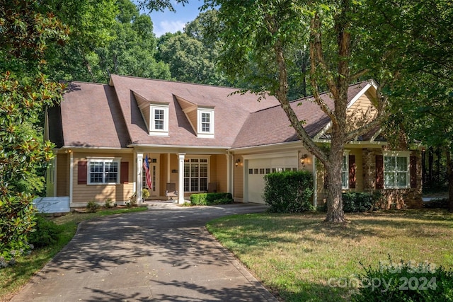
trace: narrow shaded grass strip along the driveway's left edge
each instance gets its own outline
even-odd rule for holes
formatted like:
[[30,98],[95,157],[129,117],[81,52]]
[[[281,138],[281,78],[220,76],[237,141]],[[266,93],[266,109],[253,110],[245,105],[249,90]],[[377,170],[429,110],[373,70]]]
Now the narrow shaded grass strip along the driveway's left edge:
[[46,248],[33,250],[28,256],[18,257],[18,259],[16,259],[16,265],[13,267],[0,269],[0,301],[8,301],[11,299],[22,286],[27,284],[34,274],[39,272],[47,262],[52,260],[52,258],[69,243],[72,237],[74,237],[77,225],[81,221],[96,219],[96,217],[106,215],[144,211],[146,209],[146,207],[101,209],[96,213],[69,213],[52,219],[55,223],[62,225],[64,229],[58,238],[58,243]]

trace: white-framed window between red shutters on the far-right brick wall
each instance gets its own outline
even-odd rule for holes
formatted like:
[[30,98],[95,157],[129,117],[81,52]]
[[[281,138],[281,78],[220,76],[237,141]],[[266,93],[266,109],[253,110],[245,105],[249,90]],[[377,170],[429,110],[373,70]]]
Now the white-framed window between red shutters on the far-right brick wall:
[[384,188],[401,189],[409,187],[409,152],[384,153]]

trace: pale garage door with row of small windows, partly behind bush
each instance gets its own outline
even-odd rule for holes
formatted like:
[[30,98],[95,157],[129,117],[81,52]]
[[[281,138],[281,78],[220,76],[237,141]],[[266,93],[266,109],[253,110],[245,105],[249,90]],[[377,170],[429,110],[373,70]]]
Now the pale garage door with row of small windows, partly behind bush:
[[248,160],[248,170],[245,171],[248,183],[248,202],[264,204],[264,175],[284,170],[297,170],[297,156]]

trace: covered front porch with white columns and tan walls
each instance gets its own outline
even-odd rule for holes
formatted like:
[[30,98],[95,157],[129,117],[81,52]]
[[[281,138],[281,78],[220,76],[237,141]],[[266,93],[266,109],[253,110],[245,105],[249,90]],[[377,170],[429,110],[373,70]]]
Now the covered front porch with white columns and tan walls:
[[[158,151],[158,152],[156,152]],[[147,185],[144,161],[148,159],[151,188]],[[216,190],[233,192],[233,156],[226,150],[134,151],[134,188],[137,200],[142,201],[142,190],[149,191],[147,200],[173,198],[178,204],[190,199],[190,194]],[[175,188],[176,197],[167,197],[166,190]],[[173,190],[173,189],[170,189]]]

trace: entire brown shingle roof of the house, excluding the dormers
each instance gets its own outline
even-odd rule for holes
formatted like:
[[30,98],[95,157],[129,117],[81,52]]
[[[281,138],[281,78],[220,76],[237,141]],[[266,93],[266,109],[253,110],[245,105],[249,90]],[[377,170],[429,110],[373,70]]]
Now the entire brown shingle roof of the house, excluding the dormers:
[[[350,86],[349,100],[368,82]],[[129,144],[241,148],[297,141],[297,135],[278,101],[268,96],[233,94],[236,88],[206,86],[112,75],[110,86],[71,82],[64,100],[49,110],[50,139],[57,146],[124,148]],[[150,136],[134,93],[152,102],[169,103],[168,137]],[[214,139],[195,134],[177,98],[214,107]],[[330,106],[328,93],[321,98]],[[301,103],[302,105],[297,105]],[[311,137],[330,122],[311,98],[292,107]],[[60,119],[61,117],[61,119]]]

